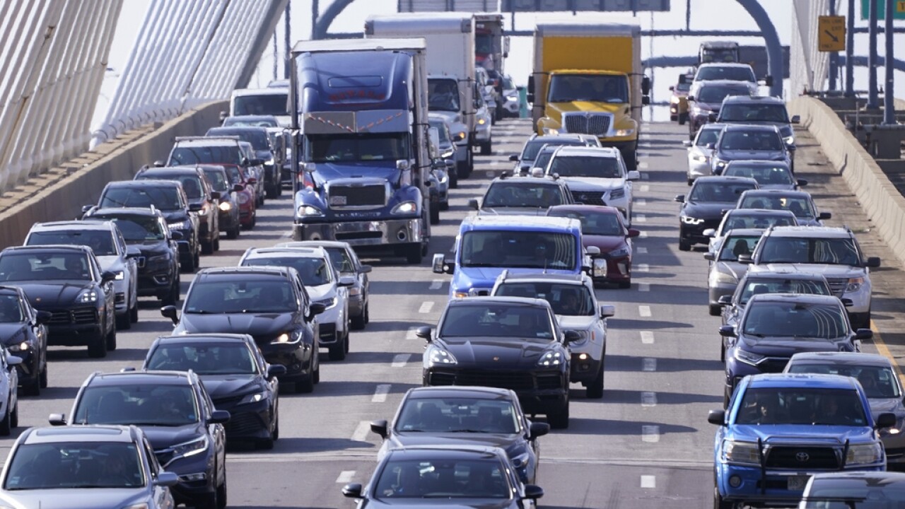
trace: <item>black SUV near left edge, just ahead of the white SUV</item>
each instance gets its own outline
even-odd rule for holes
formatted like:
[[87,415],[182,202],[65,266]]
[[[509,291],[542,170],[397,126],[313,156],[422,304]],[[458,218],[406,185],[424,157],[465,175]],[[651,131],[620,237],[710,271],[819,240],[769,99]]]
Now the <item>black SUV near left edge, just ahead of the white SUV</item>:
[[86,245],[29,245],[0,252],[0,281],[21,287],[33,308],[51,313],[48,343],[116,350],[113,280]]

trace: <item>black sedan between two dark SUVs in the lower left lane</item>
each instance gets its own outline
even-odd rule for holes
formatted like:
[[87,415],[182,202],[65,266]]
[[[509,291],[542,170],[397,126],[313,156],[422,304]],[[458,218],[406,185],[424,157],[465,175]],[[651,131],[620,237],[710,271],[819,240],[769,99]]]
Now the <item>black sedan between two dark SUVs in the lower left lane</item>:
[[157,338],[142,370],[193,370],[214,407],[230,413],[226,437],[273,448],[280,437],[277,376],[286,368],[268,364],[248,334],[182,334]]

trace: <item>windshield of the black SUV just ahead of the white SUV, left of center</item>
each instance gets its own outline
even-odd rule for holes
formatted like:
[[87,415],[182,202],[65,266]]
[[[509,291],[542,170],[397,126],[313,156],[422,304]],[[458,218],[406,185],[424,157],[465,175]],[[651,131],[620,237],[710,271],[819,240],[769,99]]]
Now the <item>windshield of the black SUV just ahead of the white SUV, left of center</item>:
[[207,277],[192,284],[186,312],[295,312],[299,310],[291,283],[276,277]]

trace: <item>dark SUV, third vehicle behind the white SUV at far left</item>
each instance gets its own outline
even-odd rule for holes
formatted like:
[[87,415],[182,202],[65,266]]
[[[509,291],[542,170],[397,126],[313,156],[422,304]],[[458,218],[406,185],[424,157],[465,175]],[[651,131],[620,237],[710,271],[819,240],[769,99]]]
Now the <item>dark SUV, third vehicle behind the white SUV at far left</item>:
[[214,191],[204,169],[195,166],[141,168],[135,179],[173,180],[182,184],[188,206],[197,209],[201,252],[211,255],[220,249],[220,191]]

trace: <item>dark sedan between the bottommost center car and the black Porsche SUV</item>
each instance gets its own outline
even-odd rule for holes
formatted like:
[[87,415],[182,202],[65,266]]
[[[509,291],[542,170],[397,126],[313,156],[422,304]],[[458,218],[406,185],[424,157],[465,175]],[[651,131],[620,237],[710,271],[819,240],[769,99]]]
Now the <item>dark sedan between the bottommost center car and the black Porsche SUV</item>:
[[547,423],[525,417],[515,392],[490,387],[409,389],[392,426],[386,420],[371,422],[371,430],[384,439],[377,461],[392,449],[411,446],[500,447],[523,483],[537,478],[536,440],[549,429]]

